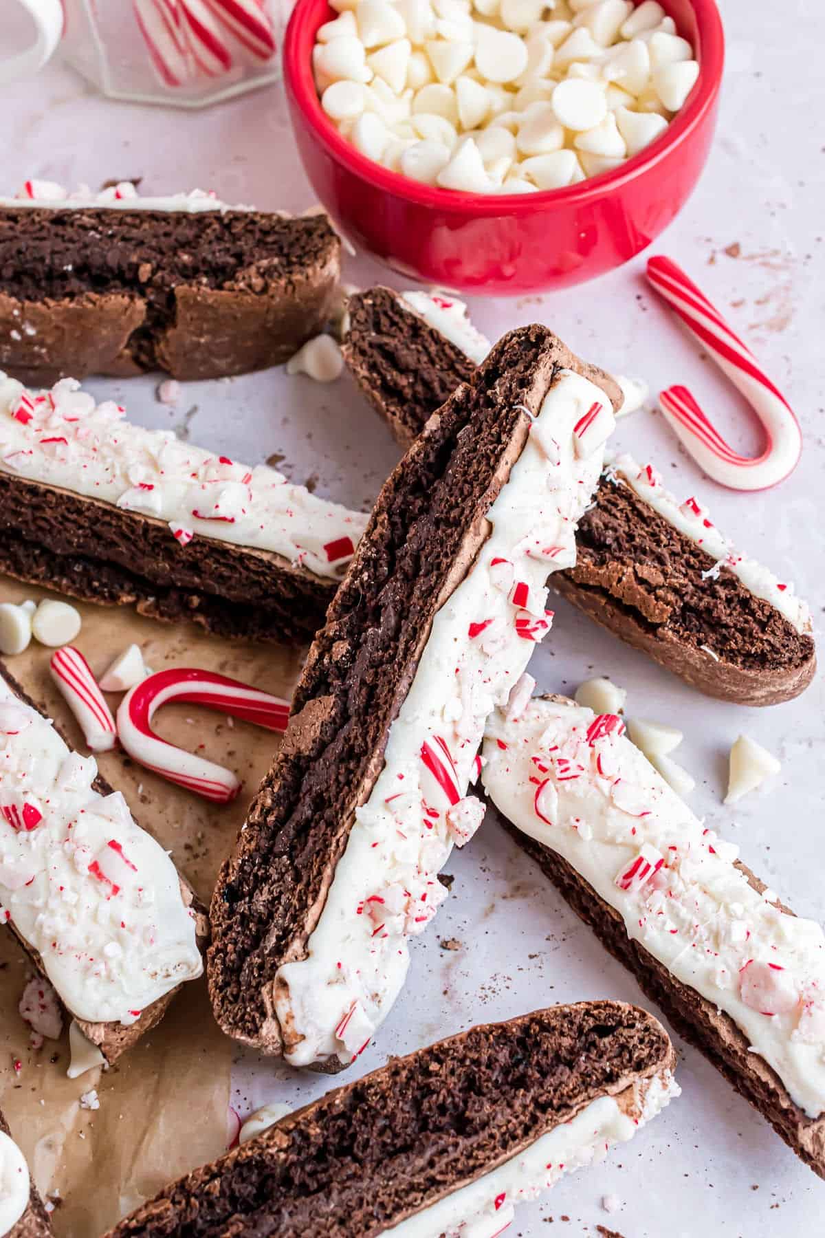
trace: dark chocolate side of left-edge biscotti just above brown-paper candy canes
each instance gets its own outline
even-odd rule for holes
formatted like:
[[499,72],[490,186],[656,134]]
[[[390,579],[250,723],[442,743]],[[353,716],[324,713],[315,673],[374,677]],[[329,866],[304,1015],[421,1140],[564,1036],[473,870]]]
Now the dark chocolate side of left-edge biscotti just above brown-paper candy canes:
[[197,535],[188,546],[152,516],[0,473],[0,572],[216,636],[303,644],[335,581],[271,551]]

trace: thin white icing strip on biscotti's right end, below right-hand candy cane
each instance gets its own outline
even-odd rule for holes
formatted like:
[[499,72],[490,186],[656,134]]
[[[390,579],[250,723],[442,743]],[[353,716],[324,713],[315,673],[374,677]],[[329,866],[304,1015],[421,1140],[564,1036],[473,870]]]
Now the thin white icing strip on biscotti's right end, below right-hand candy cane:
[[793,584],[783,583],[762,563],[740,555],[733,543],[711,522],[707,509],[694,498],[680,504],[669,490],[665,490],[660,475],[652,464],[639,468],[632,456],[618,456],[610,462],[609,477],[626,482],[635,494],[638,494],[639,499],[643,499],[668,524],[696,546],[701,546],[716,561],[712,568],[715,574],[727,568],[753,597],[776,607],[797,631],[813,630],[808,604],[795,595]]

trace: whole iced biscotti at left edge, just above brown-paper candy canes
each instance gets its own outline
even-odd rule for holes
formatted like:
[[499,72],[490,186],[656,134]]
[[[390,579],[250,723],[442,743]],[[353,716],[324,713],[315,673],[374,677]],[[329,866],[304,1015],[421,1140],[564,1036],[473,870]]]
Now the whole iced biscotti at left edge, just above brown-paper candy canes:
[[366,516],[145,430],[63,379],[0,375],[0,572],[219,636],[308,640]]

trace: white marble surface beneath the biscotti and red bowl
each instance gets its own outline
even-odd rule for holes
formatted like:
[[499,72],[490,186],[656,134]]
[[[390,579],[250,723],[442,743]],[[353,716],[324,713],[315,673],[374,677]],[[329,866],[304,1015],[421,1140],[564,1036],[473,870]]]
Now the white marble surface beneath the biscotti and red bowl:
[[[819,621],[825,79],[806,52],[825,38],[825,12],[813,0],[761,4],[754,24],[756,6],[745,0],[722,0],[722,9],[730,57],[716,146],[698,192],[656,250],[683,262],[730,312],[788,392],[805,449],[778,490],[747,495],[703,480],[649,412],[623,421],[616,437],[638,457],[653,458],[679,494],[695,491],[709,501],[716,522],[740,545],[797,582]],[[0,17],[0,30],[1,24]],[[197,184],[261,207],[302,209],[312,201],[277,88],[210,113],[176,114],[106,103],[72,72],[52,67],[36,84],[0,88],[0,113],[2,192],[26,176],[90,184],[142,176],[145,192]],[[725,253],[733,243],[738,258]],[[731,441],[753,447],[757,436],[738,400],[646,290],[642,270],[638,260],[543,301],[477,298],[471,310],[492,337],[542,319],[583,355],[643,375],[654,389],[688,381]],[[345,275],[359,284],[387,279],[362,259],[348,259]],[[317,478],[319,493],[356,506],[369,506],[397,458],[390,435],[346,379],[324,387],[280,369],[190,384],[177,411],[156,401],[153,379],[94,386],[126,401],[136,420],[187,427],[193,439],[235,457],[283,454],[281,467],[291,477]],[[628,690],[628,712],[682,727],[679,758],[698,781],[693,806],[740,843],[743,858],[798,912],[825,917],[821,680],[801,699],[768,712],[720,704],[568,607],[559,604],[557,615],[553,636],[531,667],[539,687],[573,690],[589,675],[607,673]],[[726,754],[742,730],[777,753],[783,770],[773,786],[731,812],[721,806]],[[495,821],[448,869],[455,875],[453,896],[437,926],[413,945],[406,994],[359,1070],[472,1023],[553,1002],[616,997],[649,1005]],[[458,938],[461,950],[440,950],[447,937]],[[605,1166],[523,1207],[513,1234],[555,1233],[543,1224],[550,1218],[571,1236],[595,1234],[597,1224],[627,1238],[821,1232],[825,1185],[703,1057],[679,1049],[682,1099]],[[239,1061],[236,1082],[241,1113],[267,1099],[303,1102],[329,1086],[249,1056]],[[607,1193],[623,1201],[613,1216],[601,1208]]]

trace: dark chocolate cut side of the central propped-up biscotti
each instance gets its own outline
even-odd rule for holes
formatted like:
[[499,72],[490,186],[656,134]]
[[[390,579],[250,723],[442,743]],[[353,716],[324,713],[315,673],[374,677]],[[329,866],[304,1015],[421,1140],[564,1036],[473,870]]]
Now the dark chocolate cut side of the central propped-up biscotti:
[[545,327],[505,335],[378,495],[213,898],[209,987],[218,1023],[237,1040],[282,1051],[276,972],[306,957],[433,617],[484,543],[485,513],[521,454],[524,409],[537,413],[570,365]]

